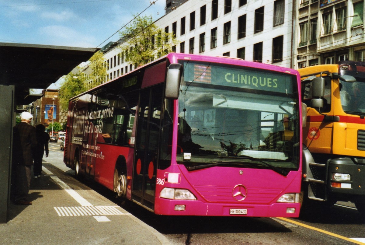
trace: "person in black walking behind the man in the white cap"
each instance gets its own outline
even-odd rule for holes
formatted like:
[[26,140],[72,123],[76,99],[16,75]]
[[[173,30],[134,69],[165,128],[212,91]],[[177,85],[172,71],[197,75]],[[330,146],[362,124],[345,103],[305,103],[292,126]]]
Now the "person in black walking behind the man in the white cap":
[[40,178],[42,175],[42,158],[46,150],[46,157],[48,157],[48,141],[49,135],[45,132],[46,127],[42,124],[38,124],[35,127],[35,135],[37,136],[37,146],[34,148],[33,159],[34,159],[34,179]]

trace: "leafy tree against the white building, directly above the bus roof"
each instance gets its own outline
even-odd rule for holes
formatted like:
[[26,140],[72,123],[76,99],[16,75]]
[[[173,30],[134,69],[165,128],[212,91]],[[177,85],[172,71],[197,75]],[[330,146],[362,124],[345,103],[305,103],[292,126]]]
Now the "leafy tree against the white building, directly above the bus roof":
[[135,16],[132,24],[119,32],[127,45],[121,45],[126,61],[142,66],[173,51],[178,41],[173,32],[158,28],[151,16]]

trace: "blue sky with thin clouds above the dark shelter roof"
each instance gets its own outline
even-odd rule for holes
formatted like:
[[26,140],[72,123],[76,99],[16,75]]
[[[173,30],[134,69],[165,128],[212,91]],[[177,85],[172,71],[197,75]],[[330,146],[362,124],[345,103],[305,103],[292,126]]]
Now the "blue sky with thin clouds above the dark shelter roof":
[[0,0],[0,42],[101,48],[117,41],[117,31],[147,7],[141,16],[161,18],[165,0],[151,2]]

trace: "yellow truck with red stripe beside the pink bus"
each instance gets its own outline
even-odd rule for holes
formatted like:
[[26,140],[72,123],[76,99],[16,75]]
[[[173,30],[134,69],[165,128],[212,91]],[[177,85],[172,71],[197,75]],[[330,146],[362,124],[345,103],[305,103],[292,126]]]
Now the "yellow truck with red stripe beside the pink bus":
[[365,221],[365,62],[299,69],[304,203],[355,203]]

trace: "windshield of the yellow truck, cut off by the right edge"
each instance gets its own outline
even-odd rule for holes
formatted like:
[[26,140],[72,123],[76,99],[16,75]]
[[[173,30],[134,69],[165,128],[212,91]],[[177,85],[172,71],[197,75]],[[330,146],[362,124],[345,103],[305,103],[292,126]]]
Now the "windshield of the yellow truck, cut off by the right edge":
[[348,114],[365,114],[364,82],[346,83],[341,81],[340,97],[342,109]]

